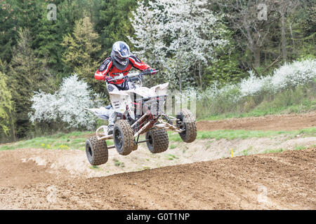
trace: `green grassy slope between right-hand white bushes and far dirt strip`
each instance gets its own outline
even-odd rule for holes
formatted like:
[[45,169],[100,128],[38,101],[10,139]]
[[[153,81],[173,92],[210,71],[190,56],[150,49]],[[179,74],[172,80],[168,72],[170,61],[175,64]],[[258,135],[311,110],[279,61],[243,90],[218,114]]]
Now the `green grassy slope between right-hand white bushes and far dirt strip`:
[[316,82],[296,87],[295,90],[283,90],[277,94],[263,92],[255,97],[246,97],[235,104],[229,99],[220,102],[209,102],[204,99],[197,102],[197,108],[199,108],[197,120],[223,120],[315,111],[315,86]]

